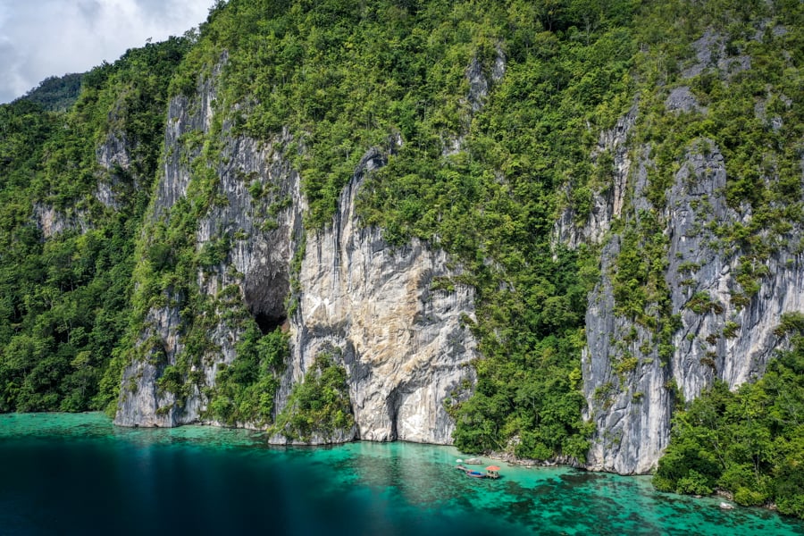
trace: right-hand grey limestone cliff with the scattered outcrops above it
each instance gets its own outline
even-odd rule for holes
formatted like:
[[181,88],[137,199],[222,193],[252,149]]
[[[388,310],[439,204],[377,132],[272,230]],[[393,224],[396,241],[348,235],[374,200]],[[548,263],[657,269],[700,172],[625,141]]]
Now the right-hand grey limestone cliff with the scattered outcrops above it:
[[[764,21],[752,39],[761,41],[771,29],[774,35],[785,31]],[[663,113],[690,121],[708,118],[708,106],[693,90],[698,77],[728,85],[751,69],[750,55],[728,49],[727,41],[706,29],[691,43],[693,55],[682,64],[679,79],[658,94],[655,104],[664,105]],[[791,106],[790,98],[779,98]],[[768,116],[765,102],[755,113],[767,131],[775,132],[782,121]],[[714,381],[736,389],[761,376],[784,344],[774,333],[782,315],[804,307],[800,224],[781,232],[754,230],[758,236],[749,239],[747,229],[761,223],[756,225],[750,204],[727,204],[727,188],[740,178],[727,177],[725,151],[706,137],[686,142],[657,194],[652,181],[666,168],[659,170],[654,161],[656,147],[634,136],[648,128],[640,123],[645,113],[651,112],[637,103],[599,135],[590,160],[598,166],[610,163],[610,170],[603,170],[607,180],[591,183],[589,214],[577,214],[570,205],[553,232],[555,241],[569,247],[599,247],[600,277],[588,299],[582,353],[585,417],[597,427],[587,466],[616,473],[646,473],[656,466],[670,439],[674,406],[698,397]],[[772,166],[764,173],[759,188],[772,188],[778,176]],[[567,188],[571,194],[572,185]],[[640,234],[646,218],[654,219],[655,228]],[[641,238],[626,244],[634,234]],[[624,248],[636,247],[647,256],[651,239],[662,251],[649,260],[662,274],[651,283],[657,301],[648,300],[644,312],[624,313],[616,297],[620,259],[631,253]],[[752,240],[766,253],[757,254]],[[648,283],[639,284],[644,289]]]

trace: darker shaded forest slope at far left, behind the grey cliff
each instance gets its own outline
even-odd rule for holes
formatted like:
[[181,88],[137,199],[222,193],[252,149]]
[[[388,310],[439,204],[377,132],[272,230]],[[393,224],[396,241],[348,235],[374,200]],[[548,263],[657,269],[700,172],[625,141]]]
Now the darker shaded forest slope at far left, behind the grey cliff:
[[[130,321],[167,86],[188,45],[174,38],[97,67],[67,113],[28,99],[0,106],[0,411],[80,411],[113,398],[120,374],[105,374]],[[127,170],[96,161],[110,133],[129,142]],[[119,206],[97,200],[99,181]]]

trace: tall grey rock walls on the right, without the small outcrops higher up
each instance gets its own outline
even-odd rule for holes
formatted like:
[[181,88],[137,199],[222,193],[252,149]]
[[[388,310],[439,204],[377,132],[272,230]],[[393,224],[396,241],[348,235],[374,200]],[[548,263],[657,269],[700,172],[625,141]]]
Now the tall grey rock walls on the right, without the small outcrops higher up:
[[[643,197],[649,162],[635,174],[633,205]],[[779,340],[775,327],[785,312],[804,303],[804,256],[796,233],[781,241],[760,272],[760,289],[746,297],[735,273],[740,247],[718,240],[716,225],[747,221],[725,204],[724,157],[708,139],[689,147],[667,193],[666,284],[670,314],[678,319],[672,356],[662,359],[655,331],[615,314],[612,271],[621,238],[611,237],[601,255],[601,280],[589,298],[587,351],[582,356],[587,417],[597,424],[588,456],[592,469],[646,473],[669,441],[674,403],[699,396],[715,380],[731,389],[765,371]],[[636,362],[632,361],[636,359]],[[629,363],[630,361],[630,363]]]

